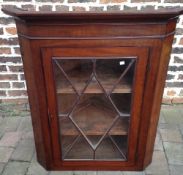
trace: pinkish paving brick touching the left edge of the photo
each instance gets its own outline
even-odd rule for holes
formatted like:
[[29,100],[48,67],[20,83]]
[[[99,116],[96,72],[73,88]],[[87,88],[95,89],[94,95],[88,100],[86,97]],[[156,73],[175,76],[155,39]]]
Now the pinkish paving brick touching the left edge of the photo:
[[0,146],[15,147],[21,138],[21,132],[6,132],[0,140]]

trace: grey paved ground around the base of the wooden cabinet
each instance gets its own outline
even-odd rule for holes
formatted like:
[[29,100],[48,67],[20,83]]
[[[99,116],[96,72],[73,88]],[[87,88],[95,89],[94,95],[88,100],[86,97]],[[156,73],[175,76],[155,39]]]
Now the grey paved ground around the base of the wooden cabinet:
[[[36,159],[30,117],[0,117],[2,175],[181,175],[183,174],[183,106],[163,106],[152,163],[142,172],[46,171]],[[20,134],[21,136],[17,133]],[[17,135],[16,135],[17,134]],[[15,137],[13,137],[15,136]],[[13,147],[12,147],[13,146]],[[169,163],[169,164],[168,164]],[[3,173],[1,173],[3,171]]]

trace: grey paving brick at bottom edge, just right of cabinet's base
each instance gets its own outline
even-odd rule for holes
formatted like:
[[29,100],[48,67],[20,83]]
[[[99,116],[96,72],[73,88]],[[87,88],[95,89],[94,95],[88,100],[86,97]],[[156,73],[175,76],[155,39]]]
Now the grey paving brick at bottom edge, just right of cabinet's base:
[[163,151],[153,153],[152,163],[146,168],[146,174],[169,174],[168,164]]

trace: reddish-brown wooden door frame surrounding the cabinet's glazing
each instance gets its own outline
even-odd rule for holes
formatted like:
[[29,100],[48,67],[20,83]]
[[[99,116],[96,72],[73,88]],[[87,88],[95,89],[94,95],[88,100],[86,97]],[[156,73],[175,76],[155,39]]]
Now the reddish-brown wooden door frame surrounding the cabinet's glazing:
[[[145,87],[146,70],[149,59],[148,47],[52,47],[41,48],[43,71],[47,92],[48,113],[50,120],[50,133],[52,141],[52,159],[56,167],[63,169],[74,169],[85,167],[87,169],[103,169],[115,167],[134,166],[136,163],[138,133],[141,118],[141,108],[143,93]],[[128,135],[128,160],[127,161],[62,161],[61,146],[59,137],[59,122],[57,114],[56,88],[53,76],[52,58],[53,57],[128,57],[136,58],[136,67],[134,73],[131,119]],[[135,149],[134,149],[135,148]]]

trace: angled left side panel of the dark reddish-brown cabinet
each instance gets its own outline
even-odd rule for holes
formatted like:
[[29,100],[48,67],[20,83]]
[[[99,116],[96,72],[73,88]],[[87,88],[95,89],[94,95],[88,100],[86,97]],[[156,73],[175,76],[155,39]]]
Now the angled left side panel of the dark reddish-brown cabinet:
[[[42,86],[42,84],[44,84],[44,79],[39,79],[41,72],[41,65],[39,64],[40,59],[36,57],[37,53],[32,50],[31,42],[29,40],[19,36],[19,42],[21,45],[21,54],[31,109],[37,159],[41,165],[49,168],[48,159],[50,151],[46,149],[44,140],[46,137],[47,141],[49,141],[49,133],[45,132],[45,129],[43,128],[43,122],[44,125],[47,123],[46,119],[44,119],[47,118],[46,95],[44,86]],[[39,71],[39,74],[37,74],[37,71]]]

